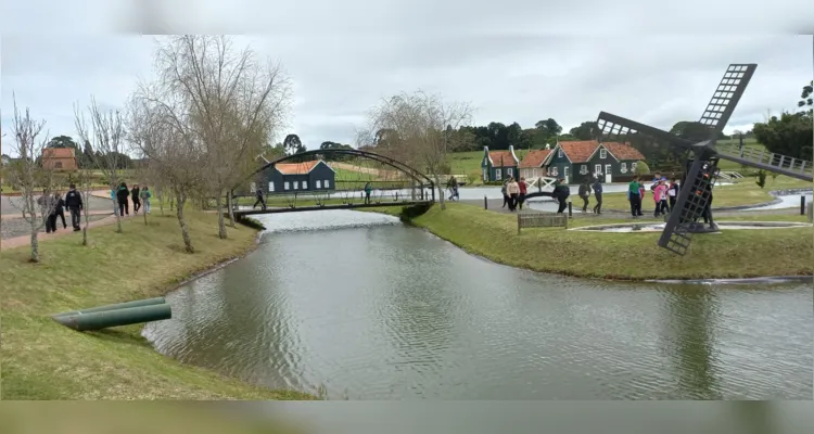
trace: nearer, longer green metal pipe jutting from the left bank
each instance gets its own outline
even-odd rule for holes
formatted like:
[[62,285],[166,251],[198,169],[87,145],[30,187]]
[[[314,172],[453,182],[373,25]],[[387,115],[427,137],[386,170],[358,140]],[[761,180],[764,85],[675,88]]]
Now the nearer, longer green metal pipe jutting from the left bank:
[[173,318],[173,310],[166,303],[53,317],[54,321],[77,331],[100,330],[109,327],[161,321],[170,318]]

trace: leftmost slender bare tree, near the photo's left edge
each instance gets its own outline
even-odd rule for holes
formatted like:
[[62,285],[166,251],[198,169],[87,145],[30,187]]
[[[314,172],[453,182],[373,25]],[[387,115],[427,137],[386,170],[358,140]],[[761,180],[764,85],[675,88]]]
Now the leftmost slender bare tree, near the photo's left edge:
[[[17,205],[23,213],[23,218],[30,226],[31,253],[29,260],[39,263],[39,231],[46,225],[46,217],[51,214],[55,205],[52,200],[51,188],[53,182],[53,170],[48,165],[37,162],[42,155],[42,150],[49,141],[48,132],[42,131],[44,120],[31,119],[29,110],[25,113],[17,108],[16,97],[14,101],[14,116],[11,122],[11,132],[14,136],[12,151],[18,158],[8,169],[12,186],[21,191],[22,203]],[[39,191],[38,191],[39,190]],[[38,192],[41,194],[37,197]]]

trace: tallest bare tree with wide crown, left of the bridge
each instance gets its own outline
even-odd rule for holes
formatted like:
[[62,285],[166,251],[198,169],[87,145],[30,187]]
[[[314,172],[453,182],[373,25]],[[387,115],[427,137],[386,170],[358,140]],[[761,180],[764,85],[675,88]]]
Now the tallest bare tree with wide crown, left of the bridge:
[[[234,50],[228,36],[170,37],[158,44],[156,61],[158,100],[179,102],[190,123],[187,132],[203,144],[202,187],[215,195],[218,237],[225,239],[222,199],[256,168],[254,157],[282,125],[289,82],[279,66],[258,62],[251,48]],[[229,213],[233,225],[231,207]]]

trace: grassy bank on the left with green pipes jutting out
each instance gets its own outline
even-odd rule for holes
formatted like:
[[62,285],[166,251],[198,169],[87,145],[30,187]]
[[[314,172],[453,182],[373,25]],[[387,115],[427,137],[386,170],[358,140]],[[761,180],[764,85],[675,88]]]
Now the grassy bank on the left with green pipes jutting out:
[[309,399],[269,391],[156,353],[140,326],[79,333],[50,314],[165,294],[177,283],[246,253],[257,232],[229,230],[217,239],[216,216],[189,212],[199,252],[182,253],[178,221],[151,216],[93,229],[91,245],[71,234],[40,244],[42,263],[26,263],[27,247],[0,254],[2,280],[2,397],[4,399]]

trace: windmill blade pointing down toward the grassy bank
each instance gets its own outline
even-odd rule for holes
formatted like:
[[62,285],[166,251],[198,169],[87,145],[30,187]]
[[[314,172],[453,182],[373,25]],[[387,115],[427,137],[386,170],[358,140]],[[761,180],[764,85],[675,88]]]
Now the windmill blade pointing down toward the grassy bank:
[[692,241],[692,226],[710,203],[716,176],[716,162],[696,158],[675,201],[677,209],[671,210],[659,238],[659,246],[681,256],[687,253]]

